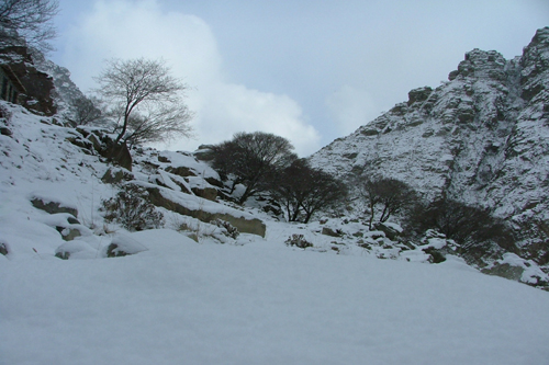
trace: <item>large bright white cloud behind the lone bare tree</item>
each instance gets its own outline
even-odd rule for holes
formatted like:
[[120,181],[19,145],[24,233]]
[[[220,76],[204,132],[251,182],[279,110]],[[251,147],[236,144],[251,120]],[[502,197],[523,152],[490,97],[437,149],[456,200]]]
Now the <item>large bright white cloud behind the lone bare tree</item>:
[[66,39],[60,59],[83,91],[94,87],[92,77],[111,57],[163,58],[190,85],[187,101],[197,113],[197,139],[168,145],[170,149],[192,150],[255,130],[290,139],[301,156],[320,148],[318,132],[291,98],[226,81],[215,36],[195,15],[165,12],[155,0],[100,0]]

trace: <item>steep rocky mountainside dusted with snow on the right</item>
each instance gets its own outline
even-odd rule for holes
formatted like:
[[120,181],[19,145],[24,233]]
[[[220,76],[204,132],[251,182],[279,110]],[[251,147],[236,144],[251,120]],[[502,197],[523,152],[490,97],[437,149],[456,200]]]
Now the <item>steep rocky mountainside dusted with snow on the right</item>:
[[504,218],[522,254],[549,255],[549,27],[520,57],[466,54],[449,81],[412,90],[408,101],[311,157],[343,178],[402,180],[428,199],[450,197]]

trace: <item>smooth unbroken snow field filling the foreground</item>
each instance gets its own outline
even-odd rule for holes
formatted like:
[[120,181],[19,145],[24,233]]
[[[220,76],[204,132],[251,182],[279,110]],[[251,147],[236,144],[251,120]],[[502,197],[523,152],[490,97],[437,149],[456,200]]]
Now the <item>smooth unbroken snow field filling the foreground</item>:
[[463,271],[132,233],[148,251],[0,261],[5,364],[541,364],[549,295]]

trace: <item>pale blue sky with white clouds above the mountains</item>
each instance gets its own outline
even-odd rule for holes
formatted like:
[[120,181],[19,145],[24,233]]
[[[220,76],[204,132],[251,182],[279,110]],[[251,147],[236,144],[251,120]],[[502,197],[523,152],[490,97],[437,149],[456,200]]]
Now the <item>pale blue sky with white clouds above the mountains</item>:
[[85,93],[109,58],[164,59],[187,84],[194,150],[237,132],[309,156],[412,89],[436,88],[467,52],[522,54],[549,25],[546,0],[59,0],[49,58]]

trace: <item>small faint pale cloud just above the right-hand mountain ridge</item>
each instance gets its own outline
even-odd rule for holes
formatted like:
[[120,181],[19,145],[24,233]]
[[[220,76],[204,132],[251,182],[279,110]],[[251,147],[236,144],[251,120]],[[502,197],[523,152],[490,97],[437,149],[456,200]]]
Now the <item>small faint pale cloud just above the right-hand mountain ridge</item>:
[[365,90],[345,84],[326,98],[326,105],[337,123],[337,129],[348,135],[377,116],[376,104]]

